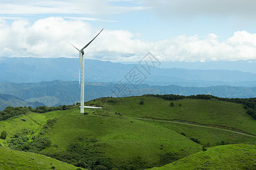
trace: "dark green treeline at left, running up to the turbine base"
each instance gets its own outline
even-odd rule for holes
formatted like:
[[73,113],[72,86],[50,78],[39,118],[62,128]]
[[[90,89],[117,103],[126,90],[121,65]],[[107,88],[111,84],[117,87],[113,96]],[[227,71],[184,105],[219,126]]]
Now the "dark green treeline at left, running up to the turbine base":
[[[80,104],[80,103],[77,103]],[[46,107],[46,106],[40,106],[36,107],[35,109],[32,107],[7,107],[3,111],[0,111],[0,121],[7,120],[11,117],[18,116],[19,114],[26,114],[28,112],[34,112],[34,113],[46,113],[51,111],[58,111],[58,110],[67,110],[72,109],[76,105],[60,105],[58,107]]]

